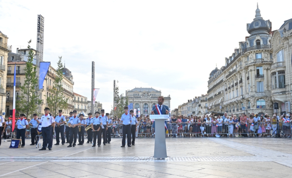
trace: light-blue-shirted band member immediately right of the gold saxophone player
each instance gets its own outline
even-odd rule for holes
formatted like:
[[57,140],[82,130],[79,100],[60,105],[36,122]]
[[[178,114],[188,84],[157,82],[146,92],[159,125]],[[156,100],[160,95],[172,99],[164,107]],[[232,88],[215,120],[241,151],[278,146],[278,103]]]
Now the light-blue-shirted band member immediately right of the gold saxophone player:
[[101,119],[101,117],[99,117],[98,111],[96,111],[94,114],[95,114],[95,117],[91,120],[91,127],[92,127],[92,132],[93,132],[93,145],[92,145],[92,147],[95,147],[95,145],[96,145],[96,136],[97,136],[98,147],[100,147],[102,119]]

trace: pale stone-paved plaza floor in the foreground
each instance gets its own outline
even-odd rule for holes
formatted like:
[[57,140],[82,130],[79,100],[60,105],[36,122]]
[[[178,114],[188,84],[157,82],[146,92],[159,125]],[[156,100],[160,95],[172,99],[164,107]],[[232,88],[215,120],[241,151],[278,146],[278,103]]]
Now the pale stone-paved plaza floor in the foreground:
[[[292,139],[166,138],[166,160],[153,159],[154,138],[138,138],[121,148],[121,139],[38,151],[0,146],[0,177],[12,178],[291,178]],[[55,140],[54,140],[55,143]]]

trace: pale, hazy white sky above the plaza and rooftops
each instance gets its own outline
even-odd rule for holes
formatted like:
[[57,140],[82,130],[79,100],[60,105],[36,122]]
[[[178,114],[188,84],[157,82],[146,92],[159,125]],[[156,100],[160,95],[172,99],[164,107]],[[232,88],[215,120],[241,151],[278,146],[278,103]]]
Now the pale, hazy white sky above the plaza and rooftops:
[[261,16],[272,30],[292,18],[289,0],[0,0],[0,31],[12,52],[36,49],[37,15],[44,17],[44,61],[62,56],[73,91],[110,112],[113,80],[120,94],[152,87],[170,95],[171,109],[207,93],[210,72],[249,36],[246,24]]

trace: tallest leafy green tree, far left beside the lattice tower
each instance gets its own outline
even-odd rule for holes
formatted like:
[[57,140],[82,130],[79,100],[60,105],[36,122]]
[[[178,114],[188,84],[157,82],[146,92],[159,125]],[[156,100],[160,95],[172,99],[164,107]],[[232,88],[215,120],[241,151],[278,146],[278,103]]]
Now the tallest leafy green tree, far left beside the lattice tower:
[[[28,41],[27,48],[30,49],[30,43]],[[26,67],[24,68],[24,83],[20,86],[22,95],[19,95],[19,99],[16,101],[16,110],[20,113],[26,114],[26,117],[32,117],[37,110],[37,105],[41,103],[38,99],[38,79],[37,79],[37,66],[33,64],[34,52],[30,50],[28,53],[28,59]],[[18,96],[16,96],[18,97]]]

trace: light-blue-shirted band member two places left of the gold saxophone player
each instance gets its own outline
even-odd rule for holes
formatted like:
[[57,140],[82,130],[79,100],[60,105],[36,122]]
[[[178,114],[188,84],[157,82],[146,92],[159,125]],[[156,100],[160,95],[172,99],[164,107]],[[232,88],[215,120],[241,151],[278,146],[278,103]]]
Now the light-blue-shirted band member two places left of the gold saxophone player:
[[[70,140],[69,140],[69,146],[67,147],[72,147],[72,146],[75,147],[76,141],[77,141],[78,126],[80,125],[80,120],[77,117],[76,110],[73,111],[73,117],[69,119],[69,125],[70,125]],[[73,136],[74,136],[74,142],[73,142]]]

